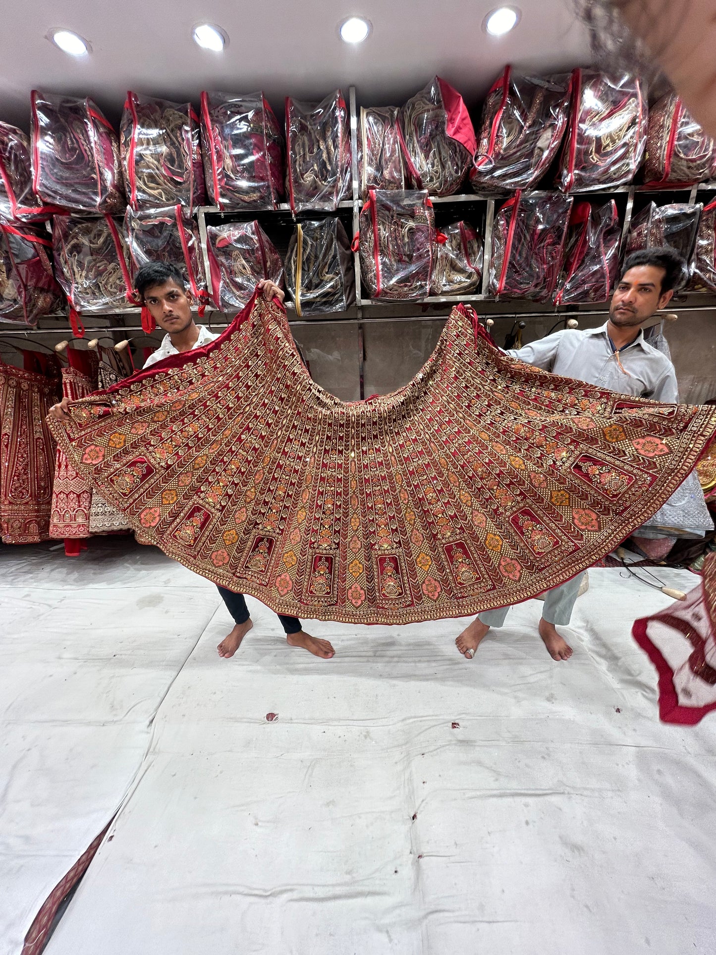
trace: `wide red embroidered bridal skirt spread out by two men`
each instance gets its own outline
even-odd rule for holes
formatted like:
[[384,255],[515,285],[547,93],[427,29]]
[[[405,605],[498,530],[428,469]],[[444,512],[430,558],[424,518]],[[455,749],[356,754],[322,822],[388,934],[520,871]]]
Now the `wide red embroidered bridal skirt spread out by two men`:
[[273,610],[474,614],[594,563],[694,468],[716,408],[600,391],[502,355],[458,306],[409,385],[344,403],[283,308],[53,421],[77,471],[170,557]]

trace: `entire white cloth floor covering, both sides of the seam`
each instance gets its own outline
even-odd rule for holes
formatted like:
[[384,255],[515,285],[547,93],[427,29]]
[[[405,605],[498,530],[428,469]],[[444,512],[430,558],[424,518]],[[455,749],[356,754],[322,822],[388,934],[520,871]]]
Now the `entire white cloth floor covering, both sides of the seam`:
[[537,601],[473,661],[466,621],[306,623],[325,661],[250,600],[221,660],[212,584],[96,546],[2,554],[3,953],[128,787],[48,955],[716,951],[716,719],[659,723],[630,635],[670,598],[590,570],[565,663]]

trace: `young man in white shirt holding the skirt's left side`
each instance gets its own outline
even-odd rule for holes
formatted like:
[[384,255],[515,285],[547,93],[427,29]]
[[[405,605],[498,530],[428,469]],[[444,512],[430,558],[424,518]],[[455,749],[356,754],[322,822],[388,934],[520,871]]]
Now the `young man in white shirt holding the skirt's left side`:
[[[158,350],[153,352],[144,363],[145,369],[151,368],[162,358],[200,348],[219,337],[203,325],[195,323],[191,310],[194,299],[185,286],[183,276],[176,265],[163,262],[143,265],[137,272],[135,286],[142,304],[149,308],[159,328],[166,331]],[[259,288],[267,301],[270,302],[273,298],[278,298],[280,302],[284,301],[284,292],[273,282],[264,279],[259,283]],[[64,398],[59,404],[53,405],[50,414],[60,420],[69,418],[68,403],[69,399]],[[218,647],[219,655],[228,659],[236,653],[243,638],[254,625],[243,594],[235,593],[227,587],[219,587],[219,592],[226,608],[234,618],[233,629]],[[287,617],[284,614],[278,614],[278,617],[284,627],[286,641],[291,647],[303,647],[314,656],[323,657],[326,660],[333,656],[335,651],[328,641],[319,640],[306,633],[301,621],[296,617]]]

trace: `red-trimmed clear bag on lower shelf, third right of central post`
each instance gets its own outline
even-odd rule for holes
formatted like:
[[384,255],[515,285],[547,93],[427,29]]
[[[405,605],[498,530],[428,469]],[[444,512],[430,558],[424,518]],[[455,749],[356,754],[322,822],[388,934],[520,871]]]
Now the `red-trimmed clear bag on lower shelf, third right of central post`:
[[560,193],[523,195],[518,189],[495,216],[490,292],[547,302],[564,257],[573,200]]

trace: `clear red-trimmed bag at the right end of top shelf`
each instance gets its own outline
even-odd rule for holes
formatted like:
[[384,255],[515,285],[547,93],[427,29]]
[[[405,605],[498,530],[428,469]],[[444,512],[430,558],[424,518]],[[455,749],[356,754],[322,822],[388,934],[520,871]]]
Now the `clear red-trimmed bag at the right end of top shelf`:
[[648,183],[702,182],[714,175],[714,140],[675,93],[649,110],[643,180]]

